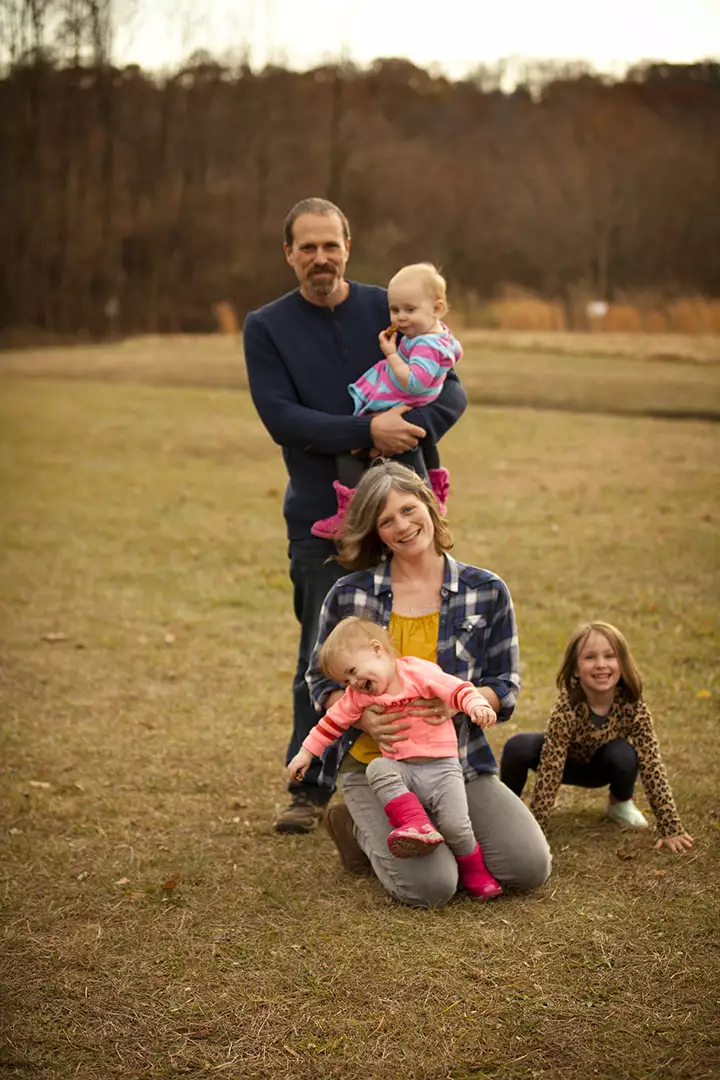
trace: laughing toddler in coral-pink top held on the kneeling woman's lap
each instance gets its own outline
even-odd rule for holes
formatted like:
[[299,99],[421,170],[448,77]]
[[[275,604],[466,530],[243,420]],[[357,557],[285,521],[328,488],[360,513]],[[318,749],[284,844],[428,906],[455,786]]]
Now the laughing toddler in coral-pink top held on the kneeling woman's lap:
[[[320,663],[334,681],[347,687],[311,730],[287,766],[299,780],[312,761],[370,705],[388,712],[410,708],[418,699],[441,699],[481,728],[497,716],[472,683],[447,675],[437,664],[398,657],[386,632],[354,616],[343,619],[323,645]],[[488,872],[467,810],[465,782],[458,759],[458,735],[451,716],[425,719],[410,711],[407,738],[382,751],[367,766],[367,781],[384,807],[392,831],[388,847],[398,859],[429,855],[446,842],[458,862],[460,879],[474,900],[492,900],[502,889]],[[437,827],[431,822],[430,811]]]

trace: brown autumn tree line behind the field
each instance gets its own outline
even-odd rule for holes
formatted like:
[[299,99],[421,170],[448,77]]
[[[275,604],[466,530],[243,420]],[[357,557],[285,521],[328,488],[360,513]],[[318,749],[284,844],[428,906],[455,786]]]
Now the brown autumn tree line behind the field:
[[452,296],[720,296],[720,63],[503,90],[195,55],[159,78],[113,65],[83,10],[59,56],[28,24],[0,79],[0,330],[210,329],[221,300],[242,320],[291,287],[282,221],[309,194],[348,214],[359,280],[431,259]]

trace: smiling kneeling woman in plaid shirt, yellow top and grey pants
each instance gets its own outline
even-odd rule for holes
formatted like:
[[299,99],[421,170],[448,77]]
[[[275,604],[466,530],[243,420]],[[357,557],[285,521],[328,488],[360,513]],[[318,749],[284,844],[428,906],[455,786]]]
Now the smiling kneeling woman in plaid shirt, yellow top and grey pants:
[[[505,583],[489,570],[466,566],[448,554],[452,537],[425,483],[409,469],[380,462],[363,476],[338,541],[339,562],[355,572],[327,594],[317,644],[308,671],[310,693],[321,712],[342,688],[323,674],[320,649],[341,619],[354,615],[386,627],[400,656],[431,660],[450,675],[478,687],[498,714],[508,719],[519,689],[515,613]],[[437,717],[446,706],[421,701],[416,715]],[[362,732],[351,728],[325,754],[321,783],[332,785],[338,766],[352,833],[388,892],[417,907],[441,907],[458,888],[452,853],[440,848],[429,859],[395,859],[388,849],[390,825],[370,791],[365,769],[404,739],[398,714],[368,708]],[[531,889],[549,875],[545,837],[527,807],[498,779],[498,766],[481,728],[458,721],[460,761],[475,835],[488,870],[503,888]],[[337,818],[344,811],[331,808]],[[336,842],[342,825],[334,822]],[[341,856],[352,859],[344,831]]]

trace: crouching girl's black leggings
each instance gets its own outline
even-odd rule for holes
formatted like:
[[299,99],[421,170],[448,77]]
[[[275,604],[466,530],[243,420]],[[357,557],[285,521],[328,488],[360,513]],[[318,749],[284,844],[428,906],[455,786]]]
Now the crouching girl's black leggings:
[[[540,752],[545,735],[521,732],[507,740],[500,761],[500,779],[516,795],[522,794],[528,770],[533,772],[540,764]],[[638,755],[624,739],[613,739],[600,746],[587,764],[568,758],[562,772],[562,783],[574,787],[606,787],[620,802],[633,798],[638,775]]]

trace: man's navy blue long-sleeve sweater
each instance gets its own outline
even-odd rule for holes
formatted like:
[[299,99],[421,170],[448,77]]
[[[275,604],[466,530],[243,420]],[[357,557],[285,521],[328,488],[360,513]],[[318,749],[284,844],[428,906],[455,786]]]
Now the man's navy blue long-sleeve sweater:
[[[354,417],[348,386],[382,359],[388,294],[350,282],[336,308],[311,303],[300,289],[252,311],[245,320],[245,362],[260,419],[283,448],[289,483],[283,513],[290,540],[337,510],[336,455],[372,446],[371,416]],[[405,419],[437,442],[462,416],[465,392],[450,372],[440,395]]]

